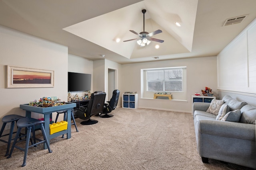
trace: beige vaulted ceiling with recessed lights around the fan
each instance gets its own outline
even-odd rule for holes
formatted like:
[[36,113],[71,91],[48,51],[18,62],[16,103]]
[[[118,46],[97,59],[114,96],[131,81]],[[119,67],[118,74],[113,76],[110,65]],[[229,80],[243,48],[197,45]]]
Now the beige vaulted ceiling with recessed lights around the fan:
[[[256,18],[255,9],[255,0],[1,0],[0,25],[65,45],[72,55],[136,63],[217,55]],[[246,17],[223,26],[238,16]],[[161,29],[152,37],[164,42],[123,42],[138,38],[129,30],[143,29]]]

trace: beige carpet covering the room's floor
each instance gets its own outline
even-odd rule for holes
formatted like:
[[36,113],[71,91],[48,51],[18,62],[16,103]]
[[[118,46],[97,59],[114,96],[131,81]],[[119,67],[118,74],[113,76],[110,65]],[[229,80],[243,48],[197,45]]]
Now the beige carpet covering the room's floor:
[[[196,150],[192,115],[153,109],[117,108],[114,117],[93,116],[95,125],[72,125],[71,139],[50,140],[52,153],[42,144],[24,152],[14,149],[12,157],[0,150],[0,169],[47,170],[244,170],[235,164],[209,160],[204,164]],[[38,137],[41,137],[39,134]],[[24,145],[24,143],[20,143]]]

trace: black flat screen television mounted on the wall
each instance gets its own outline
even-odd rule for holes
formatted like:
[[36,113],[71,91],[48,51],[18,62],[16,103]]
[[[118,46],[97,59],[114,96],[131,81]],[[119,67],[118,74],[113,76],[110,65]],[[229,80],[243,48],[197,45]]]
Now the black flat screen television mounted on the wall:
[[68,92],[91,90],[91,74],[68,72]]

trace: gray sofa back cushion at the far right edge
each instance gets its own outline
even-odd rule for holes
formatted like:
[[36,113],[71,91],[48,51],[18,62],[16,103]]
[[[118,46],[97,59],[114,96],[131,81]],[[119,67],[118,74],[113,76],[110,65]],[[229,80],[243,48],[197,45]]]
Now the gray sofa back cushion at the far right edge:
[[241,108],[241,112],[242,112],[242,115],[240,118],[241,123],[255,124],[256,107],[251,106],[251,105],[246,105]]

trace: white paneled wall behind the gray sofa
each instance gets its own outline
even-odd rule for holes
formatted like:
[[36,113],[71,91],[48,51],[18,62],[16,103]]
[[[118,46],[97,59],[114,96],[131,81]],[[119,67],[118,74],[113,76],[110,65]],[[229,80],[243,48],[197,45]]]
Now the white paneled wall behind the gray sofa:
[[217,56],[220,97],[230,95],[255,106],[256,19]]

